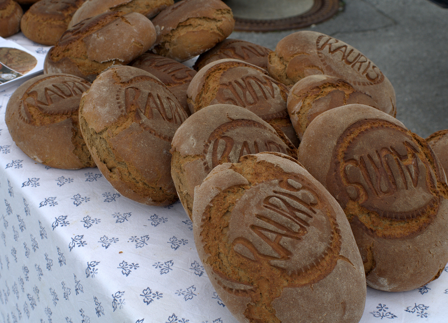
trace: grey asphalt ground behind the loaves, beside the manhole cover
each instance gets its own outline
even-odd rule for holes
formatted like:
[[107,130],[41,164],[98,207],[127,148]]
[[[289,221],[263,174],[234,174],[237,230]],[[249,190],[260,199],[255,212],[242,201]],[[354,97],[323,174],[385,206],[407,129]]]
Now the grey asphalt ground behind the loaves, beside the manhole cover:
[[[264,18],[262,1],[259,12],[251,13],[253,18]],[[426,138],[447,129],[448,9],[429,0],[344,3],[344,9],[331,19],[302,30],[331,35],[372,60],[394,86],[396,118],[411,131]],[[279,15],[284,12],[283,6],[280,9]],[[280,39],[295,31],[233,32],[229,37],[275,49]]]

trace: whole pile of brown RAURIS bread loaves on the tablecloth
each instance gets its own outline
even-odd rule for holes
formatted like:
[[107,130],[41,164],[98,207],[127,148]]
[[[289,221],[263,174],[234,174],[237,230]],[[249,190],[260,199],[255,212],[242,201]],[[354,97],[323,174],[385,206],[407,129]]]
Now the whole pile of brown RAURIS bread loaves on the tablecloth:
[[[226,39],[220,0],[41,0],[23,17],[55,46],[9,100],[17,146],[96,164],[139,203],[179,197],[241,323],[357,323],[366,283],[414,289],[448,262],[448,131],[406,129],[355,48],[313,31],[275,51]],[[196,55],[196,71],[180,63]]]

